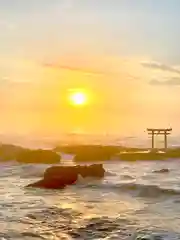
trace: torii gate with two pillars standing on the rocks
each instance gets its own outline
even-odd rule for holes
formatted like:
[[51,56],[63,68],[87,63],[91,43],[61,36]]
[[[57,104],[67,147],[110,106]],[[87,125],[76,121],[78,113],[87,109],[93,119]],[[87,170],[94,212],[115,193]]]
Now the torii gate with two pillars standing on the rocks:
[[167,136],[171,134],[172,128],[147,128],[152,138],[152,149],[154,149],[154,136],[164,135],[164,149],[167,150]]

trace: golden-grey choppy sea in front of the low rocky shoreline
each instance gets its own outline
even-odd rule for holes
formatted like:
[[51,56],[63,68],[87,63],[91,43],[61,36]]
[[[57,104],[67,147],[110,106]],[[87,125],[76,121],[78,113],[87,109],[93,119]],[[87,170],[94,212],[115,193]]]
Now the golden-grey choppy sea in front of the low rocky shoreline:
[[0,240],[180,239],[180,160],[103,164],[102,180],[47,190],[26,185],[50,165],[1,163]]

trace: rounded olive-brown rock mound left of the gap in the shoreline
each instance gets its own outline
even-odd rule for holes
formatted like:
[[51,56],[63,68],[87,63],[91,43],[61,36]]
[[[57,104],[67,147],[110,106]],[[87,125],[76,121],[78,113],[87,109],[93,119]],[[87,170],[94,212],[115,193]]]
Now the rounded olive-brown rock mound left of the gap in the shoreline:
[[19,163],[53,164],[60,162],[60,156],[51,150],[23,150],[16,160]]

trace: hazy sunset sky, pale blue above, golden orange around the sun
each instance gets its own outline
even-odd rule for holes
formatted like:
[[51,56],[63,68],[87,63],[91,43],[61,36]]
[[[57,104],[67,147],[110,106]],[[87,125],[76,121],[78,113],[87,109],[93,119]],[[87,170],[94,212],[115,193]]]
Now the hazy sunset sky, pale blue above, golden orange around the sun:
[[0,133],[180,133],[179,13],[179,0],[0,1]]

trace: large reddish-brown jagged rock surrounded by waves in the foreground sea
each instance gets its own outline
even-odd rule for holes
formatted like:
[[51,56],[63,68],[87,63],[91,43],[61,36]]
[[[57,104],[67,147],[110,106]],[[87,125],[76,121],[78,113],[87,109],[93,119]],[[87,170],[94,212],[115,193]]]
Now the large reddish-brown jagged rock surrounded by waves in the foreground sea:
[[102,164],[90,166],[53,166],[48,168],[44,173],[44,178],[27,187],[62,189],[68,185],[75,184],[78,175],[86,177],[104,177],[105,170]]

